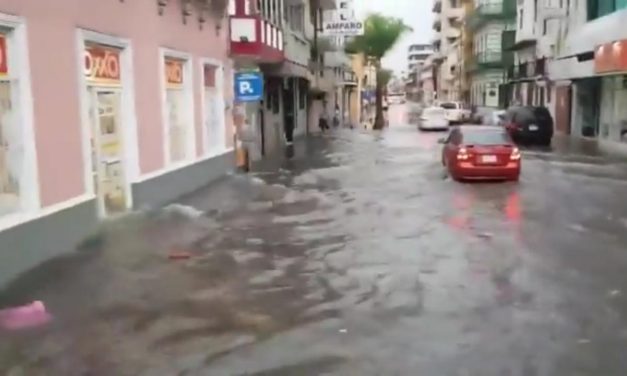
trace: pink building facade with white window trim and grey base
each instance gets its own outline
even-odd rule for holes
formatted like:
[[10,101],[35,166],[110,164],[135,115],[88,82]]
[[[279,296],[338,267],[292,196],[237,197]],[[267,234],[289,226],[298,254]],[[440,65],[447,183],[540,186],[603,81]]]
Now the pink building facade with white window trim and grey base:
[[[0,216],[0,283],[72,251],[94,230],[102,214],[95,202],[86,124],[85,42],[122,48],[121,157],[127,194],[136,194],[127,209],[173,200],[232,165],[232,128],[228,126],[232,123],[226,121],[231,118],[232,68],[226,25],[217,25],[208,16],[201,30],[196,13],[184,24],[180,6],[170,2],[159,15],[152,0],[0,1],[0,23],[18,25],[9,32],[16,36],[9,55],[23,55],[11,68],[20,71],[19,91],[30,98],[20,102],[19,112],[24,131],[28,130],[24,133],[27,173],[35,176],[30,187],[21,187],[34,193],[28,207],[16,215]],[[24,31],[19,34],[23,39],[17,38],[15,30]],[[187,59],[184,101],[190,106],[183,116],[189,119],[191,137],[186,159],[176,164],[167,160],[164,54]],[[205,138],[203,66],[207,62],[215,66],[216,77],[221,76],[213,83],[216,89],[228,88],[220,93],[215,109],[217,118],[227,122],[215,155],[204,142],[212,137]],[[200,165],[209,173],[198,175],[195,167]],[[152,188],[160,184],[166,188],[153,196]]]

